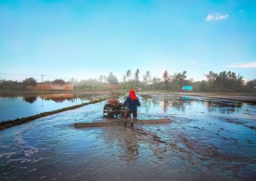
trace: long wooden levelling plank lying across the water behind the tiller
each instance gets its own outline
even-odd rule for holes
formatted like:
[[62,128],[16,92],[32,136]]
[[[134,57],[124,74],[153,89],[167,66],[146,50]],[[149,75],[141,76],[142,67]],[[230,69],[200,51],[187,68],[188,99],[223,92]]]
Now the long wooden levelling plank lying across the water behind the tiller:
[[[137,120],[134,124],[159,124],[159,123],[170,123],[170,119],[149,119],[149,120]],[[81,122],[76,123],[75,127],[104,127],[104,126],[118,126],[124,125],[124,122],[118,119],[108,119],[102,122]]]

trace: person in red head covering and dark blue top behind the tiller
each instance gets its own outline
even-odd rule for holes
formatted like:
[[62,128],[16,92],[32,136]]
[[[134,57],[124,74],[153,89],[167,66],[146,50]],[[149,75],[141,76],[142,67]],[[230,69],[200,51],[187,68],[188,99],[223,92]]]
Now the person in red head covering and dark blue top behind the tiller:
[[[130,90],[130,95],[128,98],[125,99],[123,106],[127,106],[127,110],[125,110],[124,114],[124,126],[126,127],[127,124],[127,118],[130,117],[132,113],[132,120],[135,120],[137,118],[137,106],[140,106],[140,101],[135,95],[135,91],[133,89]],[[133,127],[133,124],[131,122],[131,127]]]

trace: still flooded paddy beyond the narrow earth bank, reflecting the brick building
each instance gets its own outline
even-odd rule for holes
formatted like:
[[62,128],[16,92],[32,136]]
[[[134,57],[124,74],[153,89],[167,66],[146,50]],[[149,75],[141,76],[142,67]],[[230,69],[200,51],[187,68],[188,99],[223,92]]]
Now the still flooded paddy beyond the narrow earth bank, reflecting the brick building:
[[107,98],[108,94],[38,94],[0,97],[0,122]]

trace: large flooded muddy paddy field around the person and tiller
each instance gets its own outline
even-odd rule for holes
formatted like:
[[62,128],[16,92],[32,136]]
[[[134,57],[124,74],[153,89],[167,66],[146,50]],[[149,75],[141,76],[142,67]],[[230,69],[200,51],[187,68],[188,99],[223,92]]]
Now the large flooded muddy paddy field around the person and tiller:
[[[253,180],[256,106],[141,94],[139,119],[171,124],[75,129],[105,102],[0,132],[1,180]],[[124,98],[121,98],[124,100]]]

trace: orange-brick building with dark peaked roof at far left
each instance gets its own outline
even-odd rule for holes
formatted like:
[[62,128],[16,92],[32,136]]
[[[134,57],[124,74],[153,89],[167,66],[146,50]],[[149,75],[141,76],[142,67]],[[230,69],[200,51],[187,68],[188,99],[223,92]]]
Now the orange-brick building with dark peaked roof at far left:
[[[42,87],[43,86],[43,87]],[[30,91],[73,91],[73,85],[68,84],[64,80],[56,79],[51,83],[38,83],[36,86],[28,85],[26,86],[27,90]]]

